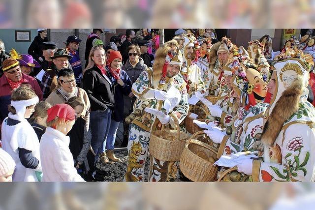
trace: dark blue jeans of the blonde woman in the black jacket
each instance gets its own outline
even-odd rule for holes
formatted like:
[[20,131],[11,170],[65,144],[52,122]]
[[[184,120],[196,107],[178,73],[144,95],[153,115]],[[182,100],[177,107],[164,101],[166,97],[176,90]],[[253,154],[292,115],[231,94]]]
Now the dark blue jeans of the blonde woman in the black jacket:
[[106,145],[106,137],[108,135],[111,117],[112,111],[110,109],[92,111],[90,114],[90,128],[92,132],[91,146],[96,154],[95,160],[98,154],[104,152],[103,144]]

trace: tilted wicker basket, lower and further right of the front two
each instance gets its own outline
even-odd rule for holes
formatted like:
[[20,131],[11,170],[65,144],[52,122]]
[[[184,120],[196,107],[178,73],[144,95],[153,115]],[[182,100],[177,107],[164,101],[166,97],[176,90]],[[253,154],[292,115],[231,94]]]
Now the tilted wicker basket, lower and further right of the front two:
[[200,134],[204,134],[204,132],[199,131],[193,134],[186,142],[179,162],[179,167],[185,177],[189,180],[212,181],[217,176],[218,166],[214,166],[212,162],[199,157],[196,153],[201,151],[206,154],[207,158],[213,157],[216,160],[217,150],[210,145],[194,139]]

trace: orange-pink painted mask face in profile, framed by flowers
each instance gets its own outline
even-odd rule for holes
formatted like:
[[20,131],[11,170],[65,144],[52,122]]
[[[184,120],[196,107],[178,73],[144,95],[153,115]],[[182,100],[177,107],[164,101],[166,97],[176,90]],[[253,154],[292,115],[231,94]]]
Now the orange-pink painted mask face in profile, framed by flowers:
[[246,71],[246,78],[249,83],[254,85],[252,90],[254,93],[260,97],[265,97],[267,94],[267,83],[263,81],[261,74],[255,69],[249,68]]

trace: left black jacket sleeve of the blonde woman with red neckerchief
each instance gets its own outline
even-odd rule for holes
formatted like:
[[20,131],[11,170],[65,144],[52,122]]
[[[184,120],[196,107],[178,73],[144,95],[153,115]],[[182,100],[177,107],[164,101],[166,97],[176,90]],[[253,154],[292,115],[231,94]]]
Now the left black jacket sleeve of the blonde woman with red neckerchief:
[[97,81],[95,81],[95,77],[92,75],[91,72],[85,72],[85,75],[83,77],[83,89],[87,92],[89,96],[91,106],[95,107],[95,110],[106,110],[106,104],[97,100],[93,96],[94,86],[96,82]]

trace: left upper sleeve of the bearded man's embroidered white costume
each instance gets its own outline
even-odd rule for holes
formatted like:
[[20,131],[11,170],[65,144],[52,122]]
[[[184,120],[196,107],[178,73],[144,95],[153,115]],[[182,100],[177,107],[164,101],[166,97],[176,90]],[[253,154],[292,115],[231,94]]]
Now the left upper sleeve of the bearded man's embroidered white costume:
[[149,70],[143,71],[138,79],[133,83],[132,85],[132,93],[137,97],[137,98],[144,98],[144,99],[154,99],[154,92],[150,86],[151,84],[151,77]]

